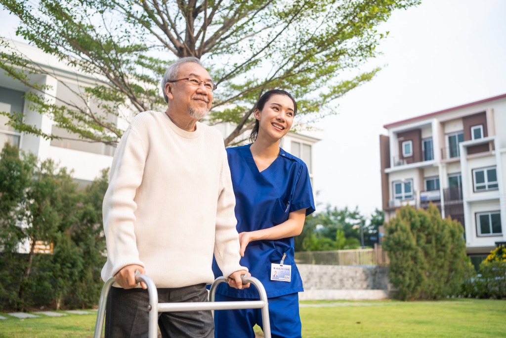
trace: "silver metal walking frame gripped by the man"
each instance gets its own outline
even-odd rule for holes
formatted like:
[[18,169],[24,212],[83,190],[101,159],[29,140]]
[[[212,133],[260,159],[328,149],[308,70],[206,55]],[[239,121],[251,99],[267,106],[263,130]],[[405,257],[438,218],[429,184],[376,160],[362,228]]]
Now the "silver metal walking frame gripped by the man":
[[[216,287],[220,283],[227,283],[225,277],[218,277],[209,290],[209,302],[189,302],[189,303],[158,303],[158,292],[154,282],[146,275],[139,272],[135,274],[135,281],[146,283],[149,294],[149,305],[146,309],[149,311],[149,330],[148,338],[157,338],[158,336],[158,313],[159,312],[179,312],[196,310],[236,310],[236,309],[262,309],[262,321],[264,324],[265,338],[271,338],[271,325],[269,322],[269,307],[267,304],[267,293],[262,283],[255,277],[241,276],[243,284],[251,283],[255,285],[260,294],[260,301],[241,301],[241,302],[215,302]],[[107,295],[114,283],[114,277],[109,278],[102,288],[100,302],[98,305],[97,323],[95,324],[94,338],[101,338],[102,328],[104,326],[105,305]],[[213,312],[214,316],[214,312]]]

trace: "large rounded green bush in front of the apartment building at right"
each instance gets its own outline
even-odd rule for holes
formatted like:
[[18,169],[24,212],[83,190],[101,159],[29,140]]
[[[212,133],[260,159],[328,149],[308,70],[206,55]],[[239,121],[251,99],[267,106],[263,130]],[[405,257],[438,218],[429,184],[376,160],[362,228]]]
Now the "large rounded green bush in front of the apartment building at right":
[[400,299],[439,299],[460,290],[466,271],[466,243],[459,222],[439,210],[401,207],[387,224],[383,247],[388,277]]

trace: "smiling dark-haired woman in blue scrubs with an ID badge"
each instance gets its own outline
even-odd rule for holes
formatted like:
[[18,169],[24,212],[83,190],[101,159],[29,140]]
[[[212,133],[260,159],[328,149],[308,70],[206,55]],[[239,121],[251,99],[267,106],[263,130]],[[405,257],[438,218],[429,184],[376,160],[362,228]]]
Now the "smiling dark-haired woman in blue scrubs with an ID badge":
[[[264,285],[269,298],[272,337],[300,337],[302,280],[294,262],[293,236],[315,211],[306,164],[279,147],[297,114],[297,102],[284,90],[264,93],[255,108],[251,144],[227,149],[236,198],[235,216],[241,265]],[[213,264],[215,276],[221,272]],[[258,300],[256,288],[236,290],[222,283],[216,301]],[[263,327],[260,309],[215,311],[215,336],[255,337]]]

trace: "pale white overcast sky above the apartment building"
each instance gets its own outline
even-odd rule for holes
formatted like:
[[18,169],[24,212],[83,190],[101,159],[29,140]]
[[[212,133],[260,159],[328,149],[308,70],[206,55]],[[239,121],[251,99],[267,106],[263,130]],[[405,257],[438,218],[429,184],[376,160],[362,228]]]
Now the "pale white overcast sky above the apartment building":
[[[17,20],[0,10],[3,27]],[[506,0],[423,0],[394,12],[383,55],[361,69],[384,68],[316,123],[317,209],[348,206],[369,215],[382,206],[379,134],[383,125],[506,93]],[[2,35],[15,37],[13,30]],[[506,126],[505,126],[506,127]]]

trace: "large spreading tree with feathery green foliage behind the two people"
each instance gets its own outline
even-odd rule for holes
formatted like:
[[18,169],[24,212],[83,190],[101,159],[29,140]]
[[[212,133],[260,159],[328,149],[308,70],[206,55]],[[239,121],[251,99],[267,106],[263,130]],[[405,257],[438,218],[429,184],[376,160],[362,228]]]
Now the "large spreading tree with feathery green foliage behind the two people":
[[[25,99],[57,127],[74,138],[114,145],[123,131],[111,116],[124,108],[163,106],[158,83],[167,63],[193,55],[205,61],[219,85],[209,122],[234,123],[225,140],[233,144],[252,127],[253,106],[269,89],[289,90],[306,120],[330,114],[333,100],[379,70],[358,70],[377,55],[386,35],[376,27],[394,10],[419,2],[5,0],[3,7],[21,20],[18,35],[87,74],[95,85],[64,84],[78,98],[49,100],[43,95],[49,86],[31,82],[29,74],[56,74],[5,39],[0,67],[32,89]],[[2,114],[20,131],[58,138],[27,124],[21,112]]]

